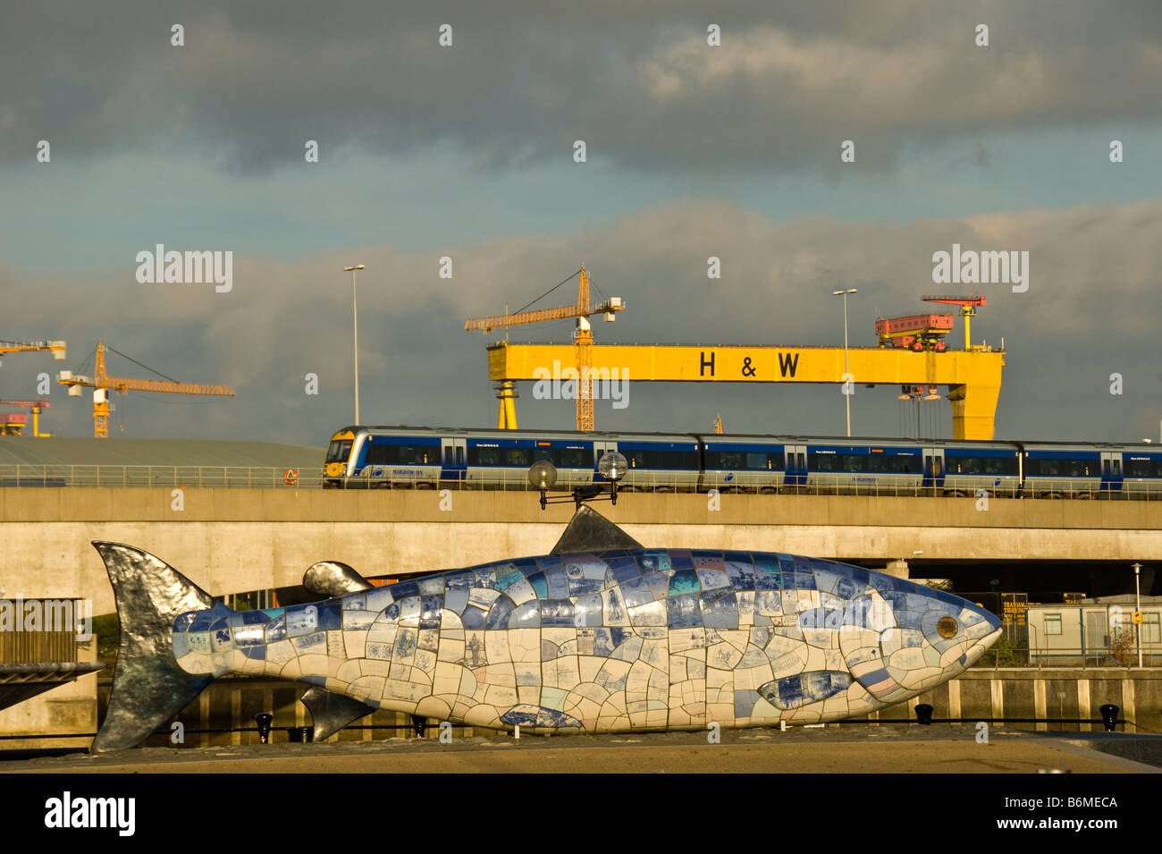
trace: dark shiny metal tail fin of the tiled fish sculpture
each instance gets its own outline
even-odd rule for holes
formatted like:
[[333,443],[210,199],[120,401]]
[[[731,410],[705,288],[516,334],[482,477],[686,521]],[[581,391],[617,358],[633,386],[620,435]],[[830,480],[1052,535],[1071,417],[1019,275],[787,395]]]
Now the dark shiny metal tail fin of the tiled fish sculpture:
[[173,658],[173,620],[213,608],[214,598],[165,561],[120,543],[93,543],[113,583],[121,644],[109,710],[91,751],[141,744],[214,679],[182,670]]

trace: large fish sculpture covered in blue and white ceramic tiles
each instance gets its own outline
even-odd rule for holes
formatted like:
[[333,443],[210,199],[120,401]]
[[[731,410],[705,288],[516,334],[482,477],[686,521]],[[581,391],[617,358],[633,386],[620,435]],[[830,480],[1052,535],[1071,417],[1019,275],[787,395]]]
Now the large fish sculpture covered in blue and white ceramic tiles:
[[121,618],[93,751],[132,747],[216,676],[311,687],[321,740],[378,709],[469,726],[627,732],[813,724],[955,677],[1000,633],[959,596],[831,560],[645,548],[582,507],[544,557],[235,611],[158,558],[94,543]]

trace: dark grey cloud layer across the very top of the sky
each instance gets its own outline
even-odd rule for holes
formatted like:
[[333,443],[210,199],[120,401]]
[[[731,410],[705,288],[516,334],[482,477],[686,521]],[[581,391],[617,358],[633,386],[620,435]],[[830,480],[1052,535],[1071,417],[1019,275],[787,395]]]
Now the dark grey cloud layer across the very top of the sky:
[[905,143],[1156,120],[1162,6],[24,2],[5,10],[0,80],[0,163],[49,139],[55,158],[267,171],[318,139],[325,157],[451,144],[512,166],[568,163],[581,138],[590,162],[777,172],[833,170],[851,138],[883,168]]

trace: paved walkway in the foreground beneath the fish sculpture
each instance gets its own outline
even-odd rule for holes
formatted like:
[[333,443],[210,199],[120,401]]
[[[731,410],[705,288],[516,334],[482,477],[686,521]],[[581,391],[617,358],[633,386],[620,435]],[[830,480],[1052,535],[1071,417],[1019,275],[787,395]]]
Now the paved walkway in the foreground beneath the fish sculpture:
[[686,732],[461,738],[450,744],[397,738],[72,754],[0,762],[0,773],[1030,774],[1042,768],[1074,774],[1160,773],[1157,767],[1125,756],[1162,763],[1162,738],[1046,735],[994,727],[989,744],[982,745],[969,727],[935,726],[726,731],[720,744]]

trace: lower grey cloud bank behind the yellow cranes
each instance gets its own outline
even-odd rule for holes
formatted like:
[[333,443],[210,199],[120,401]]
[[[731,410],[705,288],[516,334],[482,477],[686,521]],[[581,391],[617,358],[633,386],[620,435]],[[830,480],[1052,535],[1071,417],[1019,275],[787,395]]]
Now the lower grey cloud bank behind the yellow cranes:
[[[175,379],[229,382],[238,390],[230,401],[172,406],[130,395],[117,416],[128,412],[127,436],[320,444],[352,419],[351,280],[342,267],[359,261],[367,267],[359,275],[364,421],[488,426],[496,402],[483,345],[501,332],[464,332],[464,320],[536,297],[572,272],[561,259],[600,259],[596,285],[629,307],[617,323],[595,324],[598,343],[838,346],[842,310],[831,290],[854,286],[851,343],[870,346],[877,313],[920,314],[932,310],[923,294],[980,289],[988,306],[973,324],[974,342],[996,345],[1004,337],[1009,350],[998,436],[1135,440],[1157,435],[1159,234],[1156,200],[908,223],[776,223],[733,204],[683,202],[558,237],[453,246],[446,250],[454,263],[450,280],[437,275],[437,253],[387,246],[293,264],[239,257],[225,294],[205,285],[138,285],[131,271],[62,278],[0,268],[0,304],[16,307],[13,316],[23,318],[10,333],[63,337],[70,345],[67,363],[5,359],[0,397],[33,394],[37,372],[72,367],[100,335]],[[953,243],[1028,251],[1028,290],[933,284],[932,254]],[[722,279],[706,278],[711,254],[722,259]],[[569,282],[539,304],[568,304],[575,287]],[[34,329],[28,318],[42,325]],[[566,343],[569,324],[515,328],[510,336]],[[962,346],[959,322],[951,340]],[[124,361],[109,369],[143,375]],[[306,394],[307,373],[318,375],[318,396]],[[1111,373],[1122,374],[1125,394],[1110,394]],[[598,425],[705,429],[720,409],[738,432],[841,431],[837,387],[740,388],[638,383],[627,409],[598,404]],[[568,401],[535,401],[528,383],[518,390],[522,425],[569,425]],[[856,432],[895,435],[895,395],[891,387],[860,386]],[[947,424],[947,403],[939,406]],[[92,430],[87,397],[69,400],[59,386],[50,415],[52,429],[72,436]]]

